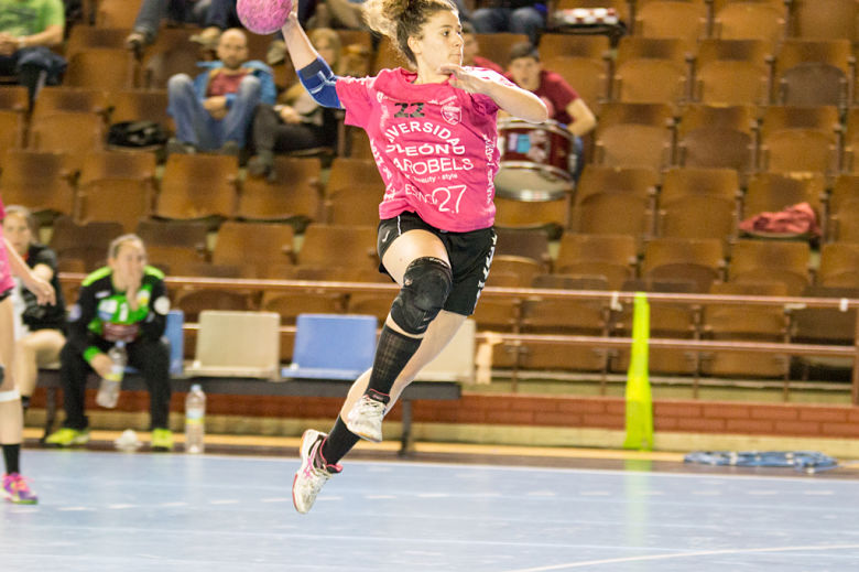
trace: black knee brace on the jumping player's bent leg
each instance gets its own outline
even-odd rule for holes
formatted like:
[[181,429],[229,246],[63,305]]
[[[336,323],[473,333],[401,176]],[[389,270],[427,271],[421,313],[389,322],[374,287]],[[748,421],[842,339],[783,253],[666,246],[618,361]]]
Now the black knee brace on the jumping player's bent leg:
[[450,293],[454,276],[444,260],[423,257],[412,261],[403,274],[403,288],[391,306],[391,317],[403,332],[426,332]]

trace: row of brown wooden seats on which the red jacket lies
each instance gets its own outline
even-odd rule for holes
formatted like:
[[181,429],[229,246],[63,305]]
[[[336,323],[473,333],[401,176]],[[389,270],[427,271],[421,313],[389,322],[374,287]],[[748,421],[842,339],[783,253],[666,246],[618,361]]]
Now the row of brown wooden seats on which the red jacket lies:
[[[672,168],[659,173],[589,164],[569,201],[523,203],[497,197],[496,224],[622,234],[640,245],[652,237],[714,238],[726,244],[738,236],[857,241],[857,197],[855,174],[828,182],[819,173],[760,172],[741,181],[730,169]],[[796,226],[764,224],[772,213],[789,208],[806,209],[794,217]]]

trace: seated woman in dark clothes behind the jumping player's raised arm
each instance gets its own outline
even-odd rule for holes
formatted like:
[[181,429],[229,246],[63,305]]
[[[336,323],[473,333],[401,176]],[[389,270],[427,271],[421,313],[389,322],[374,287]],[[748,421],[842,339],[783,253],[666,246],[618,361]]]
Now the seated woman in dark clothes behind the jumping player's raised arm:
[[[309,33],[311,42],[333,69],[341,69],[340,36],[329,28]],[[248,162],[252,176],[273,179],[274,154],[291,153],[317,147],[334,147],[337,142],[337,110],[322,107],[295,82],[280,98],[283,104],[259,105],[251,127],[250,144],[254,155]]]

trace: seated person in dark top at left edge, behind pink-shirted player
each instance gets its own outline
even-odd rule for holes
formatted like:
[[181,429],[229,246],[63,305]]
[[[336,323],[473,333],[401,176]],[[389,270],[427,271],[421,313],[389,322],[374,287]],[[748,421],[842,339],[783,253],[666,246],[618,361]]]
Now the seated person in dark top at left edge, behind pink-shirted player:
[[15,314],[21,319],[15,328],[15,361],[12,367],[24,409],[30,404],[39,367],[56,363],[66,343],[63,334],[66,307],[57,278],[56,255],[36,242],[36,230],[29,209],[18,205],[6,207],[3,235],[33,273],[50,282],[56,292],[56,304],[40,305],[36,295],[20,280],[15,280],[18,288],[12,291]]

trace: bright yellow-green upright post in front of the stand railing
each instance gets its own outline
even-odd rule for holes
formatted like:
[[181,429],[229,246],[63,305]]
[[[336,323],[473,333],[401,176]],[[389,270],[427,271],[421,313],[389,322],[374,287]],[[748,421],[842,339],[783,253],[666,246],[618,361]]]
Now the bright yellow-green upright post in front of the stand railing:
[[648,374],[650,304],[635,292],[632,312],[632,356],[627,371],[627,439],[623,449],[653,450],[653,403]]

